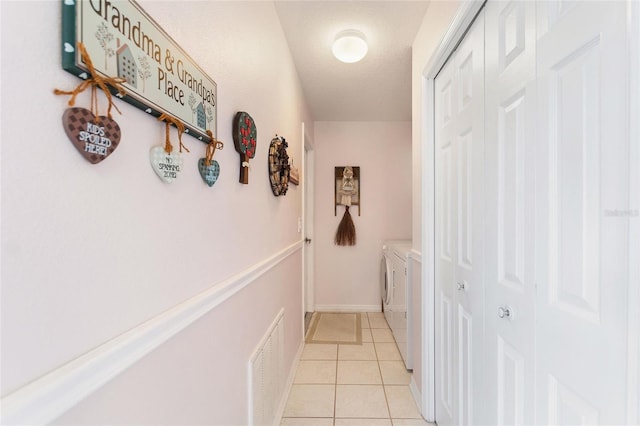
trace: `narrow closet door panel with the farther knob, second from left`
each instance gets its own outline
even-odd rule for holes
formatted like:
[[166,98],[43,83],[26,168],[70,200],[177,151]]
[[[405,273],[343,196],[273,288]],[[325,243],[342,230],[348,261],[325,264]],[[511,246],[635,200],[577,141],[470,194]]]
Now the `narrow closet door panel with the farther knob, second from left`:
[[456,52],[458,421],[477,424],[484,392],[484,12]]

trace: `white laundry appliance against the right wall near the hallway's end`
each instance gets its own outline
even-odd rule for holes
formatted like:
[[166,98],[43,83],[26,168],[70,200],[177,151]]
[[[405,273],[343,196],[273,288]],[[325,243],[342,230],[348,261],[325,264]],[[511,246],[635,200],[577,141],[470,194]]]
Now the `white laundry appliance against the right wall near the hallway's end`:
[[408,258],[411,241],[385,241],[382,246],[380,266],[380,290],[382,310],[393,332],[407,370],[413,368],[411,359],[411,288],[408,274]]

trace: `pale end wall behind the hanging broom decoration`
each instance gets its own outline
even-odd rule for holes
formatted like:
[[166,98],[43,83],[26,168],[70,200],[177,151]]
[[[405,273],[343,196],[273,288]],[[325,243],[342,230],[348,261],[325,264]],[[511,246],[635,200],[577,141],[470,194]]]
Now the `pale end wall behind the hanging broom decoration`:
[[[316,122],[315,304],[318,309],[380,310],[382,242],[411,238],[411,123]],[[333,239],[334,168],[360,166],[361,215],[351,208],[355,246]]]

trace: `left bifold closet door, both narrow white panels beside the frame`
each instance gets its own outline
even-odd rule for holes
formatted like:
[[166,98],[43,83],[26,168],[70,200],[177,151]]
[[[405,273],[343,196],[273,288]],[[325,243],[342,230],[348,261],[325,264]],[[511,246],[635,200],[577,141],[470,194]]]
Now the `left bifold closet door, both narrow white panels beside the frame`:
[[482,409],[484,16],[436,78],[436,420]]

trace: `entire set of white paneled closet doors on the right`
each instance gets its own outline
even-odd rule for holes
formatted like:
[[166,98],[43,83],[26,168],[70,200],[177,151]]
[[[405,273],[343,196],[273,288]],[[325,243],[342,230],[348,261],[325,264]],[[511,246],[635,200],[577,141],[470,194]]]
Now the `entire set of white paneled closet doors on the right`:
[[489,1],[435,79],[440,426],[636,421],[634,7]]

